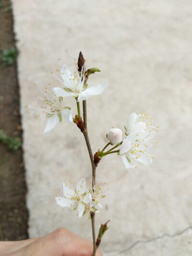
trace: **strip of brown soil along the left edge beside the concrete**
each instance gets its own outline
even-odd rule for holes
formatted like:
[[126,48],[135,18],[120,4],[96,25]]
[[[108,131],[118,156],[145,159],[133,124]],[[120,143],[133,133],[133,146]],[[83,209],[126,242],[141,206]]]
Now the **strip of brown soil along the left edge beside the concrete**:
[[[2,49],[14,47],[10,0],[0,0],[0,59]],[[16,63],[2,66],[0,61],[0,129],[22,139],[19,114],[19,87]],[[28,238],[23,153],[11,152],[0,143],[0,240]]]

